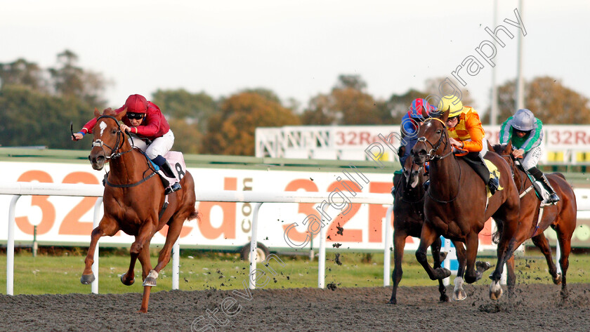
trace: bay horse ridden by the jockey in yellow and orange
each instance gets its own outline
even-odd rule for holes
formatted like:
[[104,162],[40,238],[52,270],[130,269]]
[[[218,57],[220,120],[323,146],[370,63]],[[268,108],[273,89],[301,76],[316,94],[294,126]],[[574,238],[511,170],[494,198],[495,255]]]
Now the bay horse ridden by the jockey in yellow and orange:
[[[428,118],[420,126],[418,142],[412,149],[412,173],[424,162],[430,161],[430,186],[424,199],[424,225],[420,234],[420,244],[416,258],[432,280],[450,276],[450,271],[439,267],[433,269],[426,258],[426,248],[441,235],[455,242],[459,266],[454,279],[454,294],[457,300],[464,300],[463,281],[472,284],[481,279],[490,263],[477,262],[478,234],[485,221],[493,217],[501,225],[503,232],[497,246],[497,265],[490,276],[490,298],[497,300],[502,293],[499,280],[504,263],[517,248],[512,241],[518,230],[520,199],[518,190],[511,178],[509,165],[498,154],[488,151],[486,159],[497,166],[499,183],[503,190],[497,191],[487,199],[486,184],[468,164],[453,154],[446,121],[449,112],[440,118]],[[465,245],[465,248],[463,247]]]

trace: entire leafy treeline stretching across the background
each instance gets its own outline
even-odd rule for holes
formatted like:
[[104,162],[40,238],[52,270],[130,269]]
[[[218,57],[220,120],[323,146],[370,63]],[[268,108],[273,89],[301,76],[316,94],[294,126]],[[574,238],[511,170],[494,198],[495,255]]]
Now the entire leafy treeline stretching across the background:
[[[0,145],[88,149],[70,140],[70,121],[78,130],[94,107],[107,107],[104,91],[109,82],[102,74],[78,67],[77,60],[66,50],[57,55],[55,67],[46,69],[25,59],[0,63]],[[381,100],[367,91],[359,75],[340,75],[328,93],[318,93],[303,107],[294,100],[282,102],[265,88],[238,91],[218,100],[203,91],[185,89],[157,90],[146,97],[169,119],[176,136],[174,150],[254,155],[256,127],[399,124],[412,100],[440,94],[440,81],[430,79],[424,91],[410,89]],[[499,121],[503,121],[515,112],[514,81],[498,91]],[[537,77],[525,83],[525,91],[525,105],[545,124],[590,122],[588,98],[557,79]],[[464,105],[474,105],[468,92],[463,92]],[[487,114],[484,122],[489,121]]]

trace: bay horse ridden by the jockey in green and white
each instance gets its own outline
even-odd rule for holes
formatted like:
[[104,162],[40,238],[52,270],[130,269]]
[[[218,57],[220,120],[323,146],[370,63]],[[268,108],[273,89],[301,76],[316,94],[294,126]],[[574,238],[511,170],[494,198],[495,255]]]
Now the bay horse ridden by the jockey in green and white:
[[[509,142],[504,145],[494,145],[494,151],[504,158],[512,169],[514,182],[520,193],[520,228],[524,231],[520,237],[516,238],[516,246],[522,244],[526,239],[532,239],[532,243],[537,246],[545,256],[549,267],[549,274],[553,283],[561,284],[561,296],[568,297],[568,288],[565,275],[568,272],[569,255],[571,251],[572,234],[576,228],[577,221],[577,204],[572,186],[565,180],[561,173],[546,174],[547,180],[555,188],[556,194],[560,198],[557,204],[542,206],[542,201],[537,198],[535,190],[532,190],[532,182],[527,177],[523,168],[516,166],[516,159],[512,154],[512,144]],[[541,210],[543,208],[543,210]],[[542,213],[540,213],[542,211]],[[541,220],[539,220],[541,214]],[[547,241],[544,231],[551,226],[557,234],[557,240],[560,248],[559,265],[561,273],[557,272],[553,258],[551,257],[551,246]],[[523,239],[525,237],[525,239]],[[509,291],[516,284],[516,274],[514,273],[514,258],[506,263],[508,272]]]

